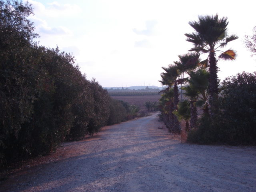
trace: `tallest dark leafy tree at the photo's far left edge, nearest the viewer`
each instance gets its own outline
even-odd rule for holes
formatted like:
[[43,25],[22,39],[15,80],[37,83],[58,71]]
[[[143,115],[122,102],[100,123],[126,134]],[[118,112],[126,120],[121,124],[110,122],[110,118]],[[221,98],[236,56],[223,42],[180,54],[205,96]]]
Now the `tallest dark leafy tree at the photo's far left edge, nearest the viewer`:
[[16,140],[21,124],[30,120],[40,92],[40,70],[34,59],[31,6],[0,0],[0,164]]

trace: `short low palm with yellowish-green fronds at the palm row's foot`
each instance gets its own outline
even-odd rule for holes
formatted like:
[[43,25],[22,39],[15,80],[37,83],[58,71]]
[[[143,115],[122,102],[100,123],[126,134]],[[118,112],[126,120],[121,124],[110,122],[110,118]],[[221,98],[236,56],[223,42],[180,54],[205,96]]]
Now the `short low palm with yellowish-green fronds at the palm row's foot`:
[[178,108],[173,112],[175,116],[179,120],[186,121],[186,132],[189,131],[189,123],[188,120],[190,119],[190,106],[188,104],[188,100],[184,100],[178,104]]

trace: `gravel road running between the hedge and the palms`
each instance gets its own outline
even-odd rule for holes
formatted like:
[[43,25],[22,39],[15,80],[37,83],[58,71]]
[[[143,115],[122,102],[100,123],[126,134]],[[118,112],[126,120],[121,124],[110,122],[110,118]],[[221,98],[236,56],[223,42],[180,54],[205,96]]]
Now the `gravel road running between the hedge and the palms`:
[[14,172],[0,191],[256,191],[256,148],[184,144],[159,124],[154,114],[106,126],[64,144],[54,161]]

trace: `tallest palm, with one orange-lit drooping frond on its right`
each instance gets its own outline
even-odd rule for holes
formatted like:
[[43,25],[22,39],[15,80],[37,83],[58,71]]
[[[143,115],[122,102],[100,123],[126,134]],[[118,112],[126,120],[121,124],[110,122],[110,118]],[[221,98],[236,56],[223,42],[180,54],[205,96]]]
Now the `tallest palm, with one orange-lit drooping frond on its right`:
[[198,21],[189,22],[189,24],[195,30],[195,32],[185,34],[187,36],[186,40],[194,44],[194,48],[189,51],[208,54],[210,109],[211,115],[214,115],[218,112],[218,67],[216,52],[221,52],[220,56],[218,56],[220,59],[234,60],[236,53],[233,50],[229,49],[223,52],[219,48],[225,47],[228,42],[236,40],[238,36],[234,34],[228,36],[227,18],[222,17],[219,19],[218,14],[215,16],[198,16]]

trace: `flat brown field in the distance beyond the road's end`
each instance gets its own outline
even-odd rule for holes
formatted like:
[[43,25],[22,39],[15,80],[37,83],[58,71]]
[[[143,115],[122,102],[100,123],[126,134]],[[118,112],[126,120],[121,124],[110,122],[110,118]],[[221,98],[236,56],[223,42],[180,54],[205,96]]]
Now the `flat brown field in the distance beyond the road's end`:
[[141,96],[111,96],[113,99],[122,100],[124,102],[128,102],[129,104],[136,104],[140,106],[140,108],[144,107],[144,103],[146,101],[150,102],[158,102],[161,95],[141,95]]

